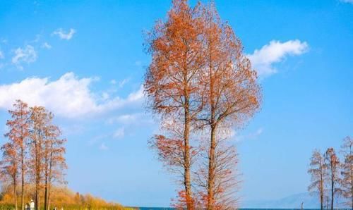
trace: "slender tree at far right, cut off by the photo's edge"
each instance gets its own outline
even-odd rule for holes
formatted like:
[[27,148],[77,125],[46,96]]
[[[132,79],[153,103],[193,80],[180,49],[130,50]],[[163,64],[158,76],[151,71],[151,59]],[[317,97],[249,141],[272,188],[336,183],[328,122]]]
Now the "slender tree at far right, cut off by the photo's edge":
[[347,205],[353,209],[353,139],[349,136],[345,137],[341,148],[345,158],[341,171],[342,192],[343,196],[348,199]]

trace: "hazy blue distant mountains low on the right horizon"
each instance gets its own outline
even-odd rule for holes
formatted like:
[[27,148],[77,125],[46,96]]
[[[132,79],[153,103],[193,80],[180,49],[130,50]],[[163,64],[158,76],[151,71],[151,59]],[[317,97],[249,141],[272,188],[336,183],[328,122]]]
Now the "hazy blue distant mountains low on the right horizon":
[[[304,209],[320,209],[320,203],[318,197],[311,196],[309,193],[293,194],[288,197],[276,200],[249,200],[241,202],[241,208],[249,209],[300,209],[301,202],[303,203]],[[337,205],[335,208],[345,208],[342,204],[343,199],[337,199]]]

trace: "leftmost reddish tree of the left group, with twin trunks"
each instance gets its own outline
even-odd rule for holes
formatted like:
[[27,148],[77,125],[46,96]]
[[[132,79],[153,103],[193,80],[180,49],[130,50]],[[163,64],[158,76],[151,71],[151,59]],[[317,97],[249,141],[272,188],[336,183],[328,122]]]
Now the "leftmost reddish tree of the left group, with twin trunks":
[[21,209],[25,208],[24,197],[25,197],[25,173],[27,171],[27,145],[29,137],[29,120],[30,111],[28,105],[20,100],[17,100],[13,104],[13,110],[9,110],[8,113],[11,115],[11,120],[8,120],[6,125],[8,126],[8,143],[4,144],[2,163],[6,166],[6,170],[3,172],[11,175],[13,180],[13,187],[15,193],[15,207],[17,209],[17,195],[16,187],[18,185],[18,179],[20,178],[21,185]]

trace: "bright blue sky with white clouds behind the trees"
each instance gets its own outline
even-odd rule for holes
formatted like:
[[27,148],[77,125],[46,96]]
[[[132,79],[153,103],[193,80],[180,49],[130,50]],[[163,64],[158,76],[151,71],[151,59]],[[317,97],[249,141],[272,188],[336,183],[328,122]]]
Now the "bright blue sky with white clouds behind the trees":
[[[195,4],[196,1],[191,1]],[[260,75],[261,111],[232,142],[244,200],[306,192],[314,148],[353,135],[353,2],[221,1]],[[14,99],[44,105],[68,139],[68,186],[168,206],[172,175],[148,149],[143,31],[170,2],[0,1],[0,129]],[[4,141],[2,139],[1,141]]]

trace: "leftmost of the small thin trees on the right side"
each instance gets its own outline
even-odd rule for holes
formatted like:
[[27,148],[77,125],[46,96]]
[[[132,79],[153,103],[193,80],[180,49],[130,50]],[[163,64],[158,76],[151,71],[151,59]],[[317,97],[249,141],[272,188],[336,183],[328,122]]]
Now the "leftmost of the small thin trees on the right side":
[[324,209],[325,202],[325,182],[328,180],[325,159],[318,150],[314,150],[311,156],[310,168],[308,173],[311,174],[311,184],[308,187],[311,194],[318,194],[320,199],[320,209]]

